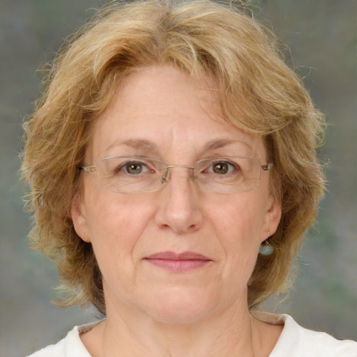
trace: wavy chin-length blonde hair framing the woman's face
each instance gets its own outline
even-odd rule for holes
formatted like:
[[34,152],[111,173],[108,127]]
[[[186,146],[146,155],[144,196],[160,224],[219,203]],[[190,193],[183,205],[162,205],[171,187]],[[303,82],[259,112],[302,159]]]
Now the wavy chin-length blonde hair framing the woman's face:
[[135,68],[171,65],[218,84],[225,119],[264,137],[273,162],[271,192],[282,205],[270,255],[259,254],[248,304],[287,289],[291,262],[312,224],[324,176],[317,162],[324,117],[283,61],[278,42],[243,5],[210,0],[143,0],[102,8],[62,47],[47,89],[24,124],[22,174],[29,183],[33,248],[50,256],[67,296],[61,305],[93,304],[105,313],[92,247],[75,233],[70,207],[80,186],[91,128],[122,79]]

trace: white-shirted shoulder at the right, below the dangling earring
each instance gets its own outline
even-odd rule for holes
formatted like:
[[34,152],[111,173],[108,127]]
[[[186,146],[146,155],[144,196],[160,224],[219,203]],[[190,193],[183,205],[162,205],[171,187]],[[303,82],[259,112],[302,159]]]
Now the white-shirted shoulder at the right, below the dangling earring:
[[323,332],[307,330],[289,315],[257,316],[272,324],[284,324],[282,334],[269,357],[357,357],[357,342],[337,340]]

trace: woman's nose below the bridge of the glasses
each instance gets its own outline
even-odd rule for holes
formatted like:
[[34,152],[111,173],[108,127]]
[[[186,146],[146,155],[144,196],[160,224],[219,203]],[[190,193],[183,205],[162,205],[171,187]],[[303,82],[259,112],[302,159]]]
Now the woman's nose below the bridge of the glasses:
[[160,191],[161,201],[155,222],[160,228],[172,229],[176,234],[197,231],[204,216],[199,207],[199,192],[193,181],[192,167],[172,165],[168,171],[163,176],[165,188]]

